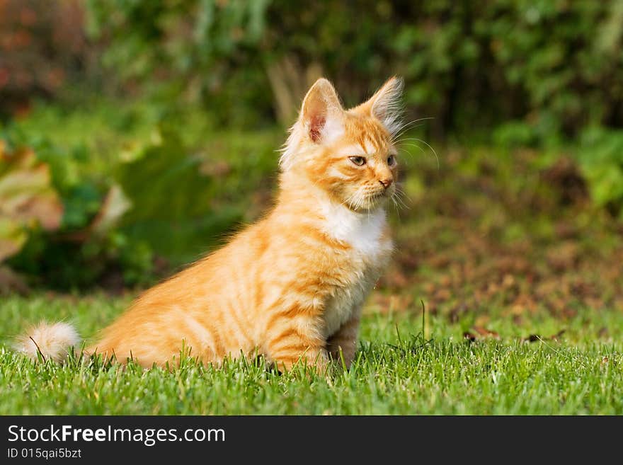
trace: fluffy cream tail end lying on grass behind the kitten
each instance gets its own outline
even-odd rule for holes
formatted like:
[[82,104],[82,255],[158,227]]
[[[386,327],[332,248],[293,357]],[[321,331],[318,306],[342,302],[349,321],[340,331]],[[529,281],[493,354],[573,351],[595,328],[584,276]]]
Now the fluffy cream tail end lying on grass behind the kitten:
[[15,348],[33,360],[62,362],[68,350],[80,342],[80,336],[69,323],[39,323],[17,338]]

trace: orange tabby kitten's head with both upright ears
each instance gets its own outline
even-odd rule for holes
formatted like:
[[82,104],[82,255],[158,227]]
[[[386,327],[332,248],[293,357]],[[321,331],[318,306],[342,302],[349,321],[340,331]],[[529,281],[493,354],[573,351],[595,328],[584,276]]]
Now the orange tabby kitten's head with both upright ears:
[[329,81],[319,79],[305,96],[280,165],[304,176],[357,212],[394,195],[398,161],[392,138],[400,128],[402,80],[392,77],[370,100],[342,108]]

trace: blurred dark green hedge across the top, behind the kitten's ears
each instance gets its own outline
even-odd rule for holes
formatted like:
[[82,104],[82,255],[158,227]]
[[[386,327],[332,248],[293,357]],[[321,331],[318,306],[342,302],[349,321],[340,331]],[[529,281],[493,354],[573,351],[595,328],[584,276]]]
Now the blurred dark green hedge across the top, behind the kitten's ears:
[[516,119],[540,137],[623,125],[620,1],[90,0],[88,13],[106,64],[161,76],[223,122],[271,110],[290,122],[319,74],[347,103],[400,74],[435,135]]

